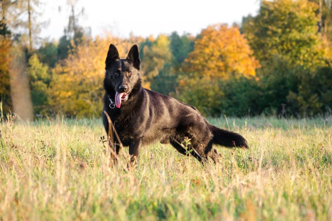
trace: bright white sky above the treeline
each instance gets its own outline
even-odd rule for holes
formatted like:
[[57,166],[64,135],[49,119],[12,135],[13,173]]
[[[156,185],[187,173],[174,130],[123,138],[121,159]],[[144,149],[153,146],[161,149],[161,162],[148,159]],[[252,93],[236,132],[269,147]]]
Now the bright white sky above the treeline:
[[[63,35],[70,14],[66,2],[46,1],[42,17],[49,25],[42,30],[42,37],[51,40]],[[143,37],[172,31],[196,35],[208,25],[240,23],[243,16],[256,15],[259,4],[259,0],[78,0],[76,13],[84,7],[85,16],[79,24],[91,27],[93,36],[104,35],[106,30],[121,37],[130,32]]]

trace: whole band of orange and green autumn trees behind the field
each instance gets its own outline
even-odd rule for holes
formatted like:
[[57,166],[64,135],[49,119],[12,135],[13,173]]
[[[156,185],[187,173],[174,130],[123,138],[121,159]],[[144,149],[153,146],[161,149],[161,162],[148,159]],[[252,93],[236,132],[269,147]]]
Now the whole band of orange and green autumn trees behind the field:
[[13,108],[10,53],[19,47],[26,55],[35,115],[99,116],[104,62],[113,43],[122,57],[139,45],[145,87],[194,105],[205,115],[331,114],[331,0],[262,1],[257,16],[232,27],[209,26],[197,36],[173,32],[125,39],[92,38],[90,29],[79,25],[83,10],[76,13],[75,4],[69,6],[63,37],[39,42],[38,48],[34,38],[1,22],[0,99],[5,111]]

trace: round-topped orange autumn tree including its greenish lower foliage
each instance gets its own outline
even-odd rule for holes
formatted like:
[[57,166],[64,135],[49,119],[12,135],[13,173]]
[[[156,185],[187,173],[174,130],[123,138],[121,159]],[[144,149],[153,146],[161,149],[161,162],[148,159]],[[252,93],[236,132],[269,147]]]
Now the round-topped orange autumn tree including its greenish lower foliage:
[[214,25],[204,29],[185,60],[178,98],[208,115],[222,111],[225,81],[253,78],[259,63],[239,28]]

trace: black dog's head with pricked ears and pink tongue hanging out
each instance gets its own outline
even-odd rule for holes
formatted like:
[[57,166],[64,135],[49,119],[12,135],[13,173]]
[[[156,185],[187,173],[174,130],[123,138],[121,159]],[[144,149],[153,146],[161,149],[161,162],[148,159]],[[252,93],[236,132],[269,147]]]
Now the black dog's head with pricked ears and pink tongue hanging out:
[[120,59],[118,49],[111,44],[106,57],[105,89],[112,87],[115,90],[115,103],[120,108],[126,102],[130,92],[140,87],[140,64],[137,45],[133,45],[126,59]]

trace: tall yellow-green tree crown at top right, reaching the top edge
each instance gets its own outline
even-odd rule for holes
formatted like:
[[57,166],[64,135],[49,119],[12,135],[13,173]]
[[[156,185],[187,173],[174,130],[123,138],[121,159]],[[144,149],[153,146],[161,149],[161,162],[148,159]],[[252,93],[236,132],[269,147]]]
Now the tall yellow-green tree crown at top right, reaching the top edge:
[[260,62],[281,57],[292,66],[323,65],[318,5],[307,0],[262,1],[257,16],[243,19],[242,32]]

